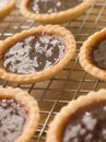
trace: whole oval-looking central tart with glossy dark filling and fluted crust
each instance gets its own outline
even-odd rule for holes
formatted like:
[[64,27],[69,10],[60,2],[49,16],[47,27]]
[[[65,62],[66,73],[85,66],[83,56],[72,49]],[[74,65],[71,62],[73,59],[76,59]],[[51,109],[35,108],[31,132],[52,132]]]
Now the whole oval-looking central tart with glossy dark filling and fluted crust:
[[0,78],[19,83],[50,79],[74,52],[74,37],[64,27],[32,27],[0,42]]

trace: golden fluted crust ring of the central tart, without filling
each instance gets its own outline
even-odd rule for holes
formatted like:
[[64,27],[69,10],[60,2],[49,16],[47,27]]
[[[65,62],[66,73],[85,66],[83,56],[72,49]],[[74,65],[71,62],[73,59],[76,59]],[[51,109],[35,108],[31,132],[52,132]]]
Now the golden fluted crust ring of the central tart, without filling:
[[46,70],[42,70],[31,74],[16,74],[16,73],[8,72],[2,67],[2,60],[1,60],[0,78],[11,82],[17,82],[17,83],[35,83],[38,81],[44,81],[52,78],[56,73],[60,72],[64,68],[64,66],[70,61],[70,59],[73,57],[75,52],[74,37],[69,31],[67,31],[64,27],[61,27],[59,25],[46,25],[46,26],[40,25],[38,27],[33,27],[28,31],[24,31],[20,34],[15,34],[13,37],[9,37],[5,40],[0,42],[0,57],[2,58],[2,55],[4,55],[4,52],[8,49],[10,49],[12,45],[36,33],[55,34],[63,38],[63,42],[66,44],[64,57],[55,66],[51,66]]

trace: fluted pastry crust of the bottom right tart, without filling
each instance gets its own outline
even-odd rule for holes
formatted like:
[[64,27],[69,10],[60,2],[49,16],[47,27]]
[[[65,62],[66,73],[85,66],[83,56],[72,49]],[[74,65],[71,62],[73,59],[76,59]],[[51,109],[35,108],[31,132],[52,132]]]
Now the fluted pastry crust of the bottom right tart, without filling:
[[106,102],[106,90],[102,88],[98,92],[91,92],[85,96],[80,96],[78,99],[71,100],[67,106],[62,107],[55,119],[50,122],[47,131],[46,142],[61,142],[63,129],[70,116],[79,108],[92,105],[93,103]]

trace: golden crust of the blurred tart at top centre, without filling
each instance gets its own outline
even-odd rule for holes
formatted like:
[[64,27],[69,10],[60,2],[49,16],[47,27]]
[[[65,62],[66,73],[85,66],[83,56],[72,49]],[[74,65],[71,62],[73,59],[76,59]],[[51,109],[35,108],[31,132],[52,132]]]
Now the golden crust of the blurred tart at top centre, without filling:
[[30,11],[27,8],[27,3],[30,2],[30,0],[23,0],[21,3],[21,13],[24,16],[26,16],[27,19],[32,19],[32,20],[35,20],[36,22],[40,22],[40,23],[45,23],[45,24],[64,23],[64,22],[73,20],[73,19],[80,16],[81,14],[83,14],[85,12],[85,10],[93,3],[93,1],[94,0],[85,0],[81,4],[79,4],[72,9],[51,13],[51,14],[48,14],[48,13],[36,14],[36,13]]

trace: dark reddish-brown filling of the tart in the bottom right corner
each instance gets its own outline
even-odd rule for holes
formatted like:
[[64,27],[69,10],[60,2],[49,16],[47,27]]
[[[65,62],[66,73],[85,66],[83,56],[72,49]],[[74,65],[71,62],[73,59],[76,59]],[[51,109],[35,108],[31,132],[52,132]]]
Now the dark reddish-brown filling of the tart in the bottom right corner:
[[76,110],[64,128],[62,142],[106,142],[106,102]]

